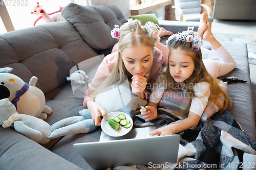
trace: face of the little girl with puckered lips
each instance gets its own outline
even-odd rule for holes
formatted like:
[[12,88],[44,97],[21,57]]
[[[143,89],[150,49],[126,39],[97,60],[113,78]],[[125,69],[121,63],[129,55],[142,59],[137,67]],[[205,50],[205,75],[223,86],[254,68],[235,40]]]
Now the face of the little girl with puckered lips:
[[170,75],[177,83],[188,79],[195,69],[195,63],[187,53],[179,48],[172,50],[169,56]]

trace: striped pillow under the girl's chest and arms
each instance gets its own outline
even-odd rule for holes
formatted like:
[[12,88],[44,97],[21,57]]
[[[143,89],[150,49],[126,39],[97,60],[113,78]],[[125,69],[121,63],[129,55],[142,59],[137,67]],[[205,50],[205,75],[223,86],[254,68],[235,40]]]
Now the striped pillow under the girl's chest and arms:
[[[227,92],[227,83],[219,83],[219,86]],[[217,102],[221,105],[224,103],[224,98],[221,94],[217,95]],[[188,97],[185,91],[166,90],[158,104],[159,107],[170,109],[170,110],[181,110],[186,108],[188,105]],[[207,119],[218,112],[220,107],[217,107],[213,103],[207,103],[204,112],[201,116],[201,122],[207,122]]]

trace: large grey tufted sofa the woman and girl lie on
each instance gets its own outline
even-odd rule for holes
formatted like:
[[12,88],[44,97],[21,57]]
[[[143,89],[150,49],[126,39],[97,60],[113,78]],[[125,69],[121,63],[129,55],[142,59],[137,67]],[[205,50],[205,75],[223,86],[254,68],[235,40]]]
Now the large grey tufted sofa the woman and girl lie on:
[[[12,67],[11,72],[25,82],[38,78],[36,86],[44,92],[46,105],[52,109],[45,121],[52,125],[58,120],[79,115],[83,98],[73,94],[66,77],[78,63],[98,55],[108,55],[117,43],[110,35],[114,25],[127,21],[115,6],[79,6],[69,4],[62,10],[66,19],[0,35],[0,68]],[[178,33],[199,22],[159,21],[167,30]],[[236,60],[236,68],[225,77],[234,76],[246,83],[228,85],[232,106],[228,110],[242,129],[254,141],[256,130],[252,105],[252,89],[245,43],[221,42]],[[205,42],[204,58],[217,59],[212,47]],[[92,169],[73,148],[74,143],[99,141],[101,128],[84,134],[52,139],[40,145],[11,128],[0,128],[1,169]]]

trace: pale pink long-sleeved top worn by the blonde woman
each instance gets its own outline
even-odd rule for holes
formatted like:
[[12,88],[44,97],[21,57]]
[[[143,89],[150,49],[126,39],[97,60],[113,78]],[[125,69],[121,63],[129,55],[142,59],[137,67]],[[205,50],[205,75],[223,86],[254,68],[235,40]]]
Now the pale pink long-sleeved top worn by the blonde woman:
[[[110,75],[110,72],[114,66],[114,63],[117,59],[118,52],[114,52],[109,54],[108,56],[104,57],[103,61],[99,65],[96,74],[91,81],[91,83],[88,85],[88,89],[86,90],[86,94],[83,96],[83,106],[87,108],[86,102],[88,100],[92,100],[92,98],[89,97],[98,87],[99,85],[104,81],[104,77]],[[163,55],[161,51],[158,50],[158,48],[155,47],[154,54],[153,54],[153,64],[150,71],[150,79],[147,84],[147,89],[150,89],[153,87],[153,84],[156,82],[157,77],[161,71],[162,64],[163,64]],[[102,78],[102,79],[100,79]]]

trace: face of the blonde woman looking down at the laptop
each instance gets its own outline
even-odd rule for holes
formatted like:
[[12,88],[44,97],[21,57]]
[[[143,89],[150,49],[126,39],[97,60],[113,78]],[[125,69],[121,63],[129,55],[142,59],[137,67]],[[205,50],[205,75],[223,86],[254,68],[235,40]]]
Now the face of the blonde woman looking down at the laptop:
[[148,46],[126,47],[122,51],[122,60],[127,71],[133,76],[145,76],[153,62],[153,50]]

